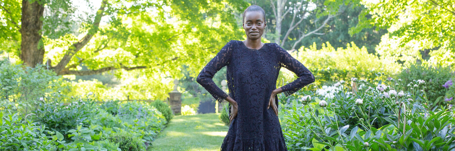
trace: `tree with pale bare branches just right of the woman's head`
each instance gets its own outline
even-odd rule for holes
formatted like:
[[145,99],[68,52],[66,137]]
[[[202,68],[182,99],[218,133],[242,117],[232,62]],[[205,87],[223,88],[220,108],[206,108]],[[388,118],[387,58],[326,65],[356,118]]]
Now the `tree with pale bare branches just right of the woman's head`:
[[308,36],[323,35],[321,29],[345,9],[345,2],[331,0],[253,0],[252,3],[263,7],[268,26],[273,27],[265,37],[284,49],[298,49]]

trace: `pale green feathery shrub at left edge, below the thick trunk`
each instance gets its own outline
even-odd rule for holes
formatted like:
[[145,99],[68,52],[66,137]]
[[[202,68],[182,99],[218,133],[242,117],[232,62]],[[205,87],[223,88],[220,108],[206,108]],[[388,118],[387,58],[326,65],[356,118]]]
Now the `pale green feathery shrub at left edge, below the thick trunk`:
[[57,79],[55,73],[42,65],[30,68],[0,60],[0,109],[28,114],[39,97],[56,88]]

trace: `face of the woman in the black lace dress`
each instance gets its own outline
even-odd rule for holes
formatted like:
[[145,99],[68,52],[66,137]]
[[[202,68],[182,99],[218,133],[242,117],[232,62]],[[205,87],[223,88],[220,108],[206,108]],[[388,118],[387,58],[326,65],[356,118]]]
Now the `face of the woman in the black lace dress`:
[[264,34],[265,17],[259,11],[248,11],[243,20],[243,29],[248,39],[257,40]]

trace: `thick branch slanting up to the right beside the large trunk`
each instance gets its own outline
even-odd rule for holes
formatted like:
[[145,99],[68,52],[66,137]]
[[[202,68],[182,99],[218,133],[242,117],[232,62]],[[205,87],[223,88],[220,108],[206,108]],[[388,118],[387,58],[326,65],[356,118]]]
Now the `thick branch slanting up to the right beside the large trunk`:
[[101,17],[104,16],[104,8],[106,7],[106,4],[107,0],[103,0],[101,2],[100,8],[96,11],[96,16],[91,29],[89,29],[84,38],[79,40],[77,43],[72,44],[66,51],[66,54],[63,56],[63,58],[61,58],[60,62],[55,67],[53,67],[56,73],[60,74],[65,66],[70,62],[71,58],[90,41],[94,34],[98,32],[98,27],[101,22]]

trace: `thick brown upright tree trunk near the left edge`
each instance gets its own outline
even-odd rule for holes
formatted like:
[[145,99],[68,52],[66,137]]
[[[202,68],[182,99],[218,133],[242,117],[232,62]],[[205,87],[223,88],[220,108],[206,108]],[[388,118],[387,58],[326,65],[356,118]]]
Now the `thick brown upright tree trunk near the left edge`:
[[29,67],[43,64],[44,44],[41,38],[43,12],[44,5],[40,4],[40,0],[33,3],[30,3],[30,0],[22,0],[20,59]]

